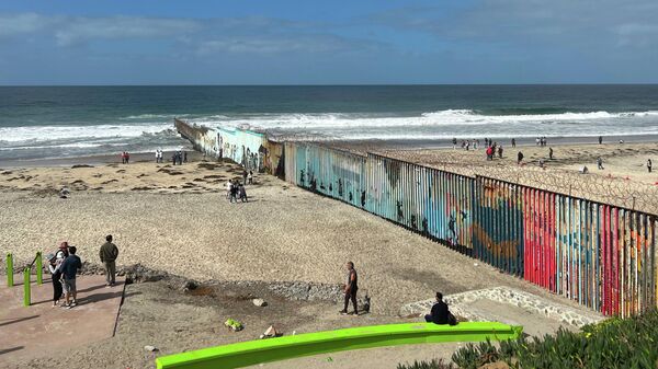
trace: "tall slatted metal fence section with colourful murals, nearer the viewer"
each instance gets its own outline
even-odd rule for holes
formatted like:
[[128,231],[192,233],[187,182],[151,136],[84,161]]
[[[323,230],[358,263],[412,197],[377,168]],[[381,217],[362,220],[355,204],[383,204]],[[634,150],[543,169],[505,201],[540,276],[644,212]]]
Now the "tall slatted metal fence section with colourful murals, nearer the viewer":
[[657,216],[379,154],[284,142],[285,181],[605,315],[658,307]]

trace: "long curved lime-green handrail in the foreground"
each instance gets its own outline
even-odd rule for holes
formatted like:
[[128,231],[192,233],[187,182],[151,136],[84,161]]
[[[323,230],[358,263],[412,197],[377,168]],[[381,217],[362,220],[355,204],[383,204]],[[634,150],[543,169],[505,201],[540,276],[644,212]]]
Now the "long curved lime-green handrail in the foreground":
[[496,322],[465,322],[458,325],[405,323],[360,326],[242,342],[156,359],[158,369],[231,369],[261,362],[361,348],[424,343],[515,339],[522,326]]

